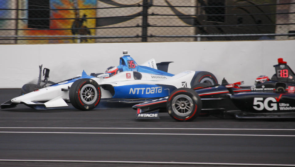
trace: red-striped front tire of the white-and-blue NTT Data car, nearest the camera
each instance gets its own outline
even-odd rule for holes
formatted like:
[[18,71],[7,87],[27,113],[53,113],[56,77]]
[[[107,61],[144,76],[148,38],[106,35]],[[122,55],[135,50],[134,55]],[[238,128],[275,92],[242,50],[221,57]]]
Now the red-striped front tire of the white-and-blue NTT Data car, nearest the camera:
[[82,78],[75,81],[69,91],[70,102],[79,110],[92,110],[101,99],[101,89],[93,79]]

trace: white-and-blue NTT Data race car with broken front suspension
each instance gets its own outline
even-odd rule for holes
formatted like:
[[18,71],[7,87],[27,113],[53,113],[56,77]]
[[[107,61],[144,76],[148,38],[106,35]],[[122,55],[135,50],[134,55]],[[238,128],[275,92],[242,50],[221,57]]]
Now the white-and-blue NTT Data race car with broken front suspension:
[[48,69],[43,70],[45,79],[41,80],[40,67],[39,82],[25,84],[21,96],[1,104],[1,109],[12,108],[17,104],[46,109],[67,107],[67,103],[71,103],[77,109],[91,110],[100,101],[141,103],[166,97],[181,87],[191,88],[198,83],[218,84],[216,77],[207,71],[170,74],[169,63],[171,62],[155,63],[151,59],[138,65],[127,51],[123,51],[120,65],[107,68],[105,73],[87,75],[83,70],[81,76],[58,83],[48,81]]

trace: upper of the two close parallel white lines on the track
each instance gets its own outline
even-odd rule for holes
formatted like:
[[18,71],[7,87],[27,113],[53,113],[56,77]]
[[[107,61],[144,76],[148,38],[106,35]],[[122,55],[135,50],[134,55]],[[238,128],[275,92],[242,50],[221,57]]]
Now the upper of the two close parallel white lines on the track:
[[295,129],[230,129],[230,128],[124,128],[124,127],[0,127],[3,129],[163,129],[163,130],[258,130],[258,131],[295,131]]

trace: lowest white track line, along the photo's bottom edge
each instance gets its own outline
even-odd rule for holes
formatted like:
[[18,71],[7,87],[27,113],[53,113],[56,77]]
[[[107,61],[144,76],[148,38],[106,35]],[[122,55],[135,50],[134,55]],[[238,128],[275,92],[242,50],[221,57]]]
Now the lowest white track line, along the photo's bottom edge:
[[206,162],[153,162],[153,161],[76,161],[76,160],[17,160],[0,159],[14,162],[76,162],[76,163],[126,163],[126,164],[178,164],[178,165],[248,165],[248,166],[295,166],[295,164],[243,164],[243,163],[206,163]]

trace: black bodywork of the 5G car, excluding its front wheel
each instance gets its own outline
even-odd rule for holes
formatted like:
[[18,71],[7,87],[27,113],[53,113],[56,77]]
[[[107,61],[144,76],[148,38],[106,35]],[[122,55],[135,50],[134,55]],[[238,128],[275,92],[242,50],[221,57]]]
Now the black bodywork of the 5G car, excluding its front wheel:
[[[294,72],[282,59],[274,65],[276,74],[272,80],[254,86],[241,83],[213,85],[195,90],[201,97],[199,116],[234,117],[237,119],[281,119],[295,118]],[[283,71],[283,72],[282,72]],[[138,113],[149,113],[155,108],[167,112],[168,97],[133,106]]]

